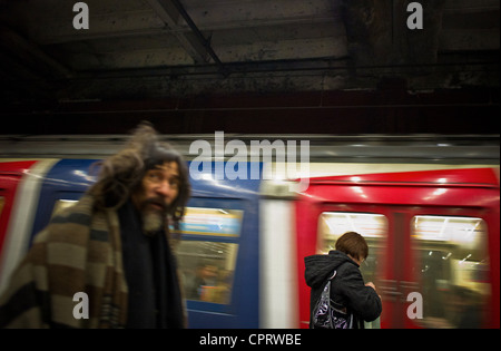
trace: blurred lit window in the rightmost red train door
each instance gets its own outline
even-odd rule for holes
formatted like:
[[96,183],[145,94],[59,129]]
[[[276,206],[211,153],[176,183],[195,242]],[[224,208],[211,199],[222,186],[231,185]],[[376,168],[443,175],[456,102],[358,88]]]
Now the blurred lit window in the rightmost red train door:
[[490,295],[488,231],[475,217],[415,216],[413,251],[430,328],[480,328]]

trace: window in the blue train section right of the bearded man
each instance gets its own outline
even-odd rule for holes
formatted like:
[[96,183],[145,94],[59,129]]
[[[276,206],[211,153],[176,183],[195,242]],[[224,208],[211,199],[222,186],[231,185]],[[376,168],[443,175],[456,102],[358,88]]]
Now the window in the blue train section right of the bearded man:
[[243,211],[188,207],[177,246],[188,300],[229,304]]

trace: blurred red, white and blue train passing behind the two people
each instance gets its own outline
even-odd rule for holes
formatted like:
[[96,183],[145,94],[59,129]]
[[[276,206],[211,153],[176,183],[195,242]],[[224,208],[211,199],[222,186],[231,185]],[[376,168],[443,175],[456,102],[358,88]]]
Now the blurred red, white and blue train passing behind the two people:
[[[228,157],[208,159],[177,248],[190,328],[307,328],[304,257],[347,231],[370,244],[361,270],[383,299],[382,328],[500,328],[498,135],[232,137],[308,139],[308,187],[267,177],[276,159],[254,179],[215,176]],[[212,136],[165,138],[193,163],[189,145]],[[0,291],[124,139],[0,137]]]

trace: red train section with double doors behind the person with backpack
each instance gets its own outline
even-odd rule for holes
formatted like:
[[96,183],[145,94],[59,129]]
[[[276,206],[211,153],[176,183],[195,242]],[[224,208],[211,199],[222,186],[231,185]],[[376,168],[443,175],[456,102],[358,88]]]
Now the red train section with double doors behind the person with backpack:
[[[364,235],[361,266],[382,295],[382,328],[499,326],[499,183],[491,169],[312,179],[296,205],[304,256],[347,231]],[[299,325],[310,290],[299,284]],[[371,325],[369,325],[371,326]]]

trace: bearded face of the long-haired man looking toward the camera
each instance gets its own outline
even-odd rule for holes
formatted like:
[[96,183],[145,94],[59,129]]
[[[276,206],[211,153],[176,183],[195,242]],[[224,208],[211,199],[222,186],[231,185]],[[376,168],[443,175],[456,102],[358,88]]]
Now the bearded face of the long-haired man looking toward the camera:
[[179,193],[179,170],[176,162],[165,162],[146,172],[141,186],[131,198],[143,215],[145,232],[163,227],[167,209]]

